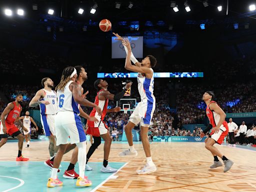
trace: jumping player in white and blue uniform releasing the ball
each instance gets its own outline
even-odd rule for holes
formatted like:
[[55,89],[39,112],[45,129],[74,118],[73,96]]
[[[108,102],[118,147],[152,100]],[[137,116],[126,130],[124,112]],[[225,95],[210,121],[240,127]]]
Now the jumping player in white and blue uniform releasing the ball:
[[[118,34],[117,38],[122,39]],[[128,39],[122,39],[122,44],[127,51],[124,68],[133,72],[138,72],[138,92],[140,94],[140,102],[135,107],[129,117],[128,123],[124,130],[129,143],[129,149],[119,153],[119,156],[137,155],[132,142],[132,128],[140,123],[140,138],[146,155],[146,164],[141,170],[136,170],[137,174],[147,174],[156,171],[156,166],[152,161],[150,153],[150,145],[147,136],[148,127],[150,125],[153,112],[155,109],[155,97],[153,95],[153,69],[156,64],[156,59],[152,55],[147,55],[142,59],[141,63],[136,60],[131,52],[131,47]],[[135,64],[132,65],[130,60]]]

